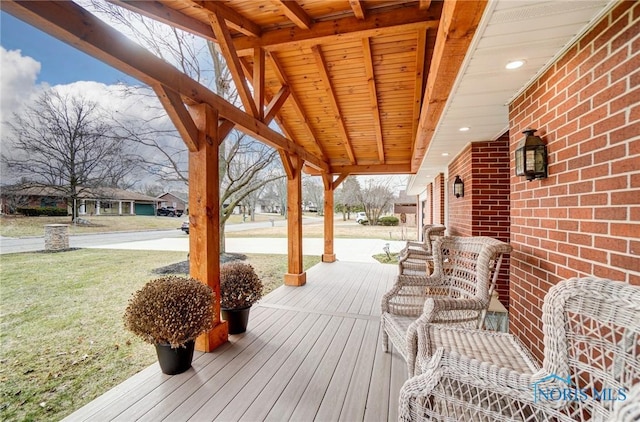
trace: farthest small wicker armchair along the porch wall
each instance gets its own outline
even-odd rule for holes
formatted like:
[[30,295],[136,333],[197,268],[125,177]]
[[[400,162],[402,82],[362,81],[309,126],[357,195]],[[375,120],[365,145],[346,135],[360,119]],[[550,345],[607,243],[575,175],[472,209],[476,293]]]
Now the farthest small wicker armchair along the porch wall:
[[429,275],[433,270],[433,241],[444,236],[446,229],[427,224],[422,228],[422,242],[408,241],[398,254],[399,274]]

